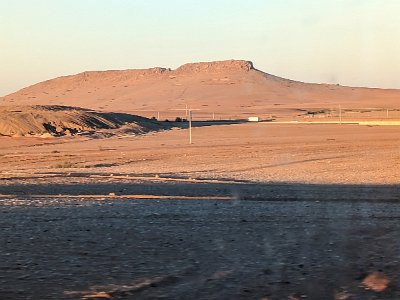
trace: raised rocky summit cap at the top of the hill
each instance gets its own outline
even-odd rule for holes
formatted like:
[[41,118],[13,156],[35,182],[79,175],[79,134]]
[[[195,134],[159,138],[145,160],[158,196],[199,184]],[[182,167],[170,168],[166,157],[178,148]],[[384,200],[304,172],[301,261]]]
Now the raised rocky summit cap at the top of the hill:
[[245,60],[224,60],[214,62],[189,63],[180,66],[176,73],[221,73],[248,72],[253,69],[253,63]]

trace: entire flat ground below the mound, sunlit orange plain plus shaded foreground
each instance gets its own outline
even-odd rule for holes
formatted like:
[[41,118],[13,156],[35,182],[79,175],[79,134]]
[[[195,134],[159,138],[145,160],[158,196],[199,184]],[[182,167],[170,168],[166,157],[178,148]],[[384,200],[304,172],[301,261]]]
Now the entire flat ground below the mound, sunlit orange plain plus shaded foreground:
[[398,127],[197,125],[1,137],[0,298],[400,298]]

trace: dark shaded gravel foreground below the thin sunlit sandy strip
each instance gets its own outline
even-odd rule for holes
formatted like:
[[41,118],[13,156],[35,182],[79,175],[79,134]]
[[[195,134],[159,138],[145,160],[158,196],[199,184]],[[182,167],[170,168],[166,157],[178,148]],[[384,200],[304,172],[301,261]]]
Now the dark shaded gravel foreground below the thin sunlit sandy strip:
[[0,214],[5,300],[400,298],[393,202],[18,197]]

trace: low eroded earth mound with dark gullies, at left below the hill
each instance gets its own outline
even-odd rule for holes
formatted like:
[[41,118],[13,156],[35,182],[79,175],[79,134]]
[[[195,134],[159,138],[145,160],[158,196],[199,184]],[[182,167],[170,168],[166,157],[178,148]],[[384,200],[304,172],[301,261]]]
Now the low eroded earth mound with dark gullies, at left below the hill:
[[98,113],[77,107],[0,106],[0,135],[48,137],[121,128],[138,133],[161,126],[134,115]]

